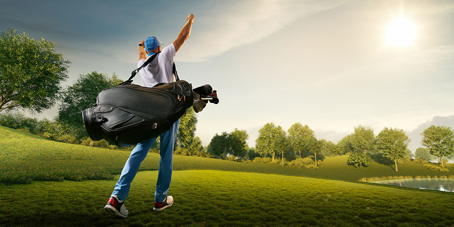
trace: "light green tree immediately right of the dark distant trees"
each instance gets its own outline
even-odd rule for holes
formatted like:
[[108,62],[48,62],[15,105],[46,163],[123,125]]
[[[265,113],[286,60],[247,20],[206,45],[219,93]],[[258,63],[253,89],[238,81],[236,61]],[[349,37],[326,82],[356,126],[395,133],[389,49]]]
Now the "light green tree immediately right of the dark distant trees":
[[276,129],[274,123],[267,123],[259,130],[259,137],[256,139],[256,152],[262,157],[271,155],[273,161],[276,153],[274,147]]

